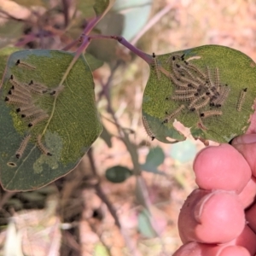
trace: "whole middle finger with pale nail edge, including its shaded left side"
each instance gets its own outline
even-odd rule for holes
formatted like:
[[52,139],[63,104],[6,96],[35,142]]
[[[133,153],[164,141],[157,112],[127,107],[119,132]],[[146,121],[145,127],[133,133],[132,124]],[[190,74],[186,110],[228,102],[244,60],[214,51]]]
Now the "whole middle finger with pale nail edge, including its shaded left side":
[[245,226],[238,195],[228,191],[196,189],[183,204],[178,218],[183,243],[224,243],[235,239]]

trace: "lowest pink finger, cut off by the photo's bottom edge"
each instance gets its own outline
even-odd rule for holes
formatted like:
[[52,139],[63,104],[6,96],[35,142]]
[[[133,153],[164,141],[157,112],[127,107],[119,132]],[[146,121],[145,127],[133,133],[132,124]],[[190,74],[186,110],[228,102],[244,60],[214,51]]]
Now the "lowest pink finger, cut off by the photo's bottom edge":
[[189,242],[180,247],[173,256],[250,256],[245,247],[207,245]]

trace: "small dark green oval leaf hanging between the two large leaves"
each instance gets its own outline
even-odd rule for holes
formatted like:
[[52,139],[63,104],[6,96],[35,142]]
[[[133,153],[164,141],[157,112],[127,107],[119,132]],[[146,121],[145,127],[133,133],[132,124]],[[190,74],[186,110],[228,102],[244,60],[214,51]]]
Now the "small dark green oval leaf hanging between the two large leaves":
[[124,166],[113,166],[106,171],[106,177],[112,183],[122,183],[131,175],[131,170]]

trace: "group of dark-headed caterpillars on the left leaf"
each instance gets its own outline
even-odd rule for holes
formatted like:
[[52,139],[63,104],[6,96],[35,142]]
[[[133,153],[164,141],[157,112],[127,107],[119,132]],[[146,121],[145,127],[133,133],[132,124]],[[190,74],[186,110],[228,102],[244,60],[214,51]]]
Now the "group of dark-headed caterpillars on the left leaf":
[[[36,67],[33,67],[32,65],[20,60],[16,61],[15,65],[17,67],[30,70],[36,69]],[[35,83],[33,80],[31,80],[28,84],[23,84],[15,79],[14,75],[10,76],[9,83],[12,86],[9,89],[8,95],[5,96],[5,102],[15,106],[16,112],[19,113],[20,118],[27,123],[29,128],[32,128],[38,123],[49,118],[49,114],[46,113],[42,108],[38,108],[35,102],[33,102],[33,95],[44,95],[48,93],[51,96],[57,96],[64,89],[64,85],[58,86],[55,89],[49,89],[44,84]],[[31,138],[31,134],[27,134],[26,137],[24,137],[20,143],[20,147],[15,153],[17,159],[20,159],[26,149],[27,143],[31,140]],[[46,148],[42,143],[41,134],[38,135],[36,143],[42,154],[52,155],[49,152],[49,149]]]

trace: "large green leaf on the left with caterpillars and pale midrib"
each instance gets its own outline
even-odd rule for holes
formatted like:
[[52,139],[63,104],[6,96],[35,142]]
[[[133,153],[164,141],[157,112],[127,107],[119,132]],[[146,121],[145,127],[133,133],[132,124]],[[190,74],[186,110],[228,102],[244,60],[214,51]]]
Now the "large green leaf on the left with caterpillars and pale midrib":
[[4,189],[32,190],[66,175],[102,132],[90,67],[73,54],[21,50],[0,87],[0,177]]

